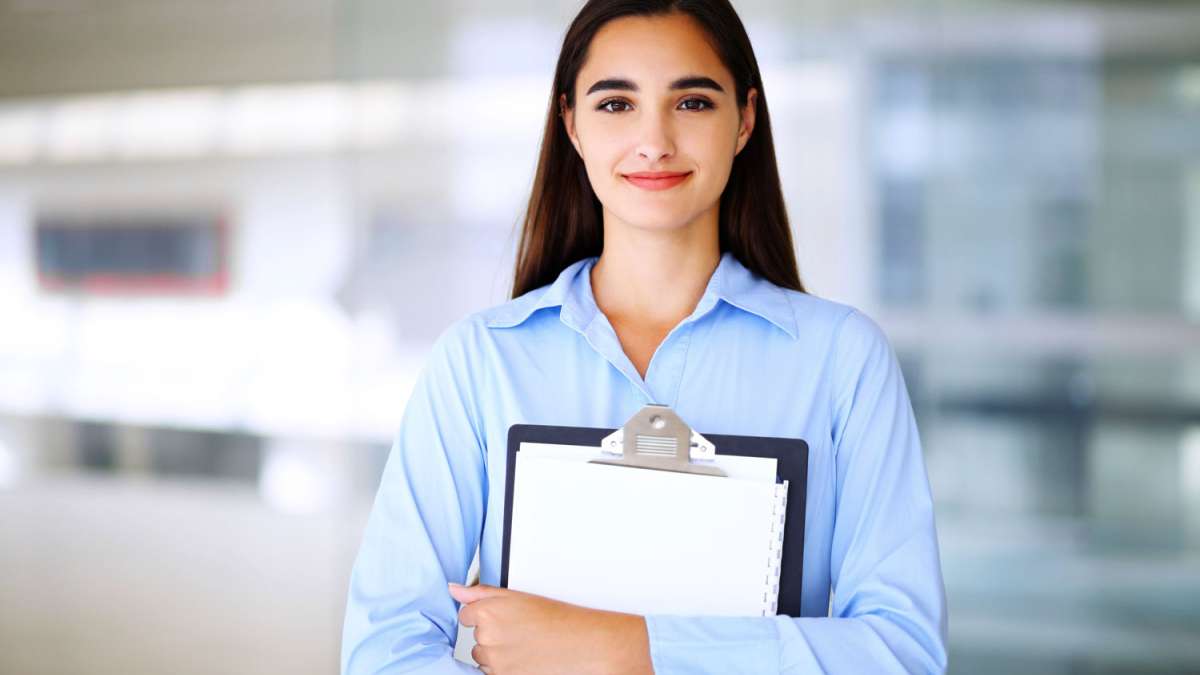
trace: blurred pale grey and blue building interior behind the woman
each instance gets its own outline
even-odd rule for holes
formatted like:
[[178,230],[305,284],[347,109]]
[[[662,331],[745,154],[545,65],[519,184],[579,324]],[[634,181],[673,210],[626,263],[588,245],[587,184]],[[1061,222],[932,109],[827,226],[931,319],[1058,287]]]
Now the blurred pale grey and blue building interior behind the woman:
[[[332,673],[576,1],[0,0],[0,673]],[[1200,4],[736,2],[901,356],[952,673],[1200,671]]]

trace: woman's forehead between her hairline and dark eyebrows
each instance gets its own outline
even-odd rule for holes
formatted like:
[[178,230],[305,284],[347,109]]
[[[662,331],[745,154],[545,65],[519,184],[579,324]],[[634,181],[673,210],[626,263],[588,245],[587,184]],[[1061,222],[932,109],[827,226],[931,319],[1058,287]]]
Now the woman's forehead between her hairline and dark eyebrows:
[[722,84],[733,79],[704,29],[690,16],[622,17],[596,31],[576,84],[586,91],[596,79],[623,77],[653,88],[684,74],[703,74]]

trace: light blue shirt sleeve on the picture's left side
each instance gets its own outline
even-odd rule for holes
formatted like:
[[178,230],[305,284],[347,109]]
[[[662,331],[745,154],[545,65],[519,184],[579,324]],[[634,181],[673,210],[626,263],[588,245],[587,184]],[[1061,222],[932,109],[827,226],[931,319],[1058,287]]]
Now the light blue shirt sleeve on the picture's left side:
[[342,674],[479,673],[454,658],[458,610],[486,504],[464,324],[433,345],[404,407],[359,548],[342,629]]

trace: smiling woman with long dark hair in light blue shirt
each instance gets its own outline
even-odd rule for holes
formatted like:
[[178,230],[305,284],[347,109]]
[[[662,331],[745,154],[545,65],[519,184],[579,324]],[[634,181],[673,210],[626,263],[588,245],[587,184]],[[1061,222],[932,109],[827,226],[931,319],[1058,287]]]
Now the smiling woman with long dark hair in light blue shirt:
[[[472,670],[452,658],[460,623],[496,675],[944,670],[904,380],[875,323],[804,293],[727,1],[582,8],[512,295],[438,339],[406,407],[354,566],[343,671]],[[647,402],[704,432],[809,442],[803,616],[643,617],[496,587],[509,426],[616,428]],[[482,584],[458,586],[476,545]]]

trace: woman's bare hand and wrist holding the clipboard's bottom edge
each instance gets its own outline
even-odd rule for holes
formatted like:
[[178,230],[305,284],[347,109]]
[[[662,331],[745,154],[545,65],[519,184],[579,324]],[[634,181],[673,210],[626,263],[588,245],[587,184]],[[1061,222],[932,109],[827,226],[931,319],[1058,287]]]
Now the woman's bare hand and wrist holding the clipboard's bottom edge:
[[653,674],[646,620],[541,596],[450,584],[463,603],[458,623],[475,627],[470,656],[490,675]]

